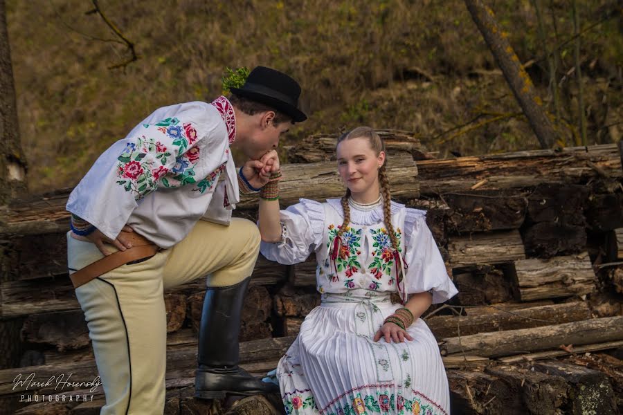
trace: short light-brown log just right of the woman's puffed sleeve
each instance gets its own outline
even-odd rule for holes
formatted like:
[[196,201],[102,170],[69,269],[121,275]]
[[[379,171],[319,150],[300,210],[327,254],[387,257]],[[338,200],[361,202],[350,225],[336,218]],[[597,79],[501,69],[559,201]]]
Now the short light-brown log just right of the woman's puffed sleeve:
[[523,242],[518,230],[450,237],[448,253],[453,268],[472,264],[501,264],[525,259]]

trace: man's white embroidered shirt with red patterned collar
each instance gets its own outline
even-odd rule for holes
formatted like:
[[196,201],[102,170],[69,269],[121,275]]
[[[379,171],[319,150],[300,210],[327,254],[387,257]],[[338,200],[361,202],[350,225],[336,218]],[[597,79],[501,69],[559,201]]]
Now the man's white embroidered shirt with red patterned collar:
[[[224,96],[157,109],[100,155],[66,210],[111,239],[127,224],[161,248],[181,241],[199,219],[227,224],[240,201],[234,139],[235,114]],[[226,180],[218,183],[221,172]]]

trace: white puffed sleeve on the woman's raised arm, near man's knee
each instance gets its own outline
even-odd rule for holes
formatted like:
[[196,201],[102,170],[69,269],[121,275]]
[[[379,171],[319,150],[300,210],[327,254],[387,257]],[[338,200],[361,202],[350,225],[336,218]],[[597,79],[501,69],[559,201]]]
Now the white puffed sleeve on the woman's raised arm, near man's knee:
[[282,234],[277,243],[262,242],[264,257],[280,264],[292,265],[305,261],[323,241],[325,210],[322,203],[300,199],[296,205],[279,212]]

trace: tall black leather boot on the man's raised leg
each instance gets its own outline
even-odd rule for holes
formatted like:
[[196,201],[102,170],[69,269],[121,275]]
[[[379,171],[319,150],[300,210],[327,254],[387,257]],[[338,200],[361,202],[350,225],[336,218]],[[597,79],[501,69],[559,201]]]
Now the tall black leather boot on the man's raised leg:
[[251,277],[233,286],[208,288],[201,313],[195,397],[222,399],[226,394],[258,395],[279,392],[238,367],[238,333],[246,288]]

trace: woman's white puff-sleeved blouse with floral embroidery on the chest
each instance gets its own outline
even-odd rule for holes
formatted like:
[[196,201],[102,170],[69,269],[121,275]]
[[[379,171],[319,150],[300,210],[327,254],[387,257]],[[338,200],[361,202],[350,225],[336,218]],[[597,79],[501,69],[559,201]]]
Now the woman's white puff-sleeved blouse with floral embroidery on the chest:
[[[431,291],[433,304],[456,295],[458,291],[426,225],[426,212],[393,201],[391,210],[392,224],[407,264],[406,292]],[[392,260],[382,255],[389,246],[383,205],[370,211],[350,207],[349,230],[342,237],[347,253],[345,259],[338,259],[338,264],[331,264],[329,245],[343,217],[340,199],[328,199],[326,203],[300,199],[300,203],[280,211],[282,240],[262,242],[260,252],[280,264],[297,264],[316,252],[316,288],[320,293],[347,293],[355,289],[396,292],[397,271],[391,265]]]

